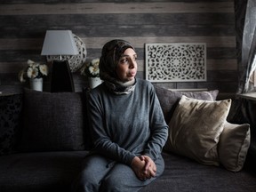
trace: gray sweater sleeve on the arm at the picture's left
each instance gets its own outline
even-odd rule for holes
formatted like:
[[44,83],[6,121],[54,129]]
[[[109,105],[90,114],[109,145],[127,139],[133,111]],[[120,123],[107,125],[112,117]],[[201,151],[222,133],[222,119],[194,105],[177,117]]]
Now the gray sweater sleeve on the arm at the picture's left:
[[90,94],[88,107],[94,150],[97,153],[107,156],[108,158],[117,162],[127,165],[132,164],[132,159],[135,157],[135,155],[124,148],[120,148],[115,142],[112,142],[105,131],[105,121],[103,119],[104,110],[102,105],[100,105],[100,100],[96,100],[92,94]]

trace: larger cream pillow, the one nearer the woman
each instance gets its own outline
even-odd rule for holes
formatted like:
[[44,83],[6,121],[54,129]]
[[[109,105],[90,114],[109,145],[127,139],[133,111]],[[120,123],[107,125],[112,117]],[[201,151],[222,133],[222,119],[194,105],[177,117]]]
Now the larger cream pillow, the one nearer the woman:
[[219,165],[217,144],[231,100],[196,100],[182,96],[169,123],[164,147],[201,164]]

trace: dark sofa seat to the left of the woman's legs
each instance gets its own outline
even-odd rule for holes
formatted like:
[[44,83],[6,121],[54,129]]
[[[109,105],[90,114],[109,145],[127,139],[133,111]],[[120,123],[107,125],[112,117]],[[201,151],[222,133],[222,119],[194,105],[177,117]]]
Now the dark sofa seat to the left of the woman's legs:
[[70,192],[87,151],[17,153],[0,157],[0,191]]

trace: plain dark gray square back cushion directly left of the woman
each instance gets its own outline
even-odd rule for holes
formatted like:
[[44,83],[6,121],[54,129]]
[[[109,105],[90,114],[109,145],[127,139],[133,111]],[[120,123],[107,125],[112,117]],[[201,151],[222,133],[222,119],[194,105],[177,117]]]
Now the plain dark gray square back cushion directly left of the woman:
[[84,149],[81,92],[24,90],[21,151]]

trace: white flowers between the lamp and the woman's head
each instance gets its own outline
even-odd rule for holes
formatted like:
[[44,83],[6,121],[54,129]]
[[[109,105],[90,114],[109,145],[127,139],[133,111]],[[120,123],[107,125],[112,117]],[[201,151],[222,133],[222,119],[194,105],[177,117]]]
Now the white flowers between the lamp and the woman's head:
[[85,64],[81,69],[81,74],[88,77],[100,77],[100,59],[93,59],[90,63]]

